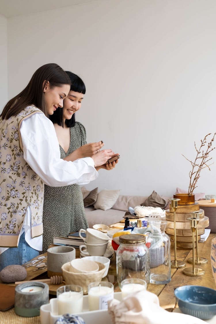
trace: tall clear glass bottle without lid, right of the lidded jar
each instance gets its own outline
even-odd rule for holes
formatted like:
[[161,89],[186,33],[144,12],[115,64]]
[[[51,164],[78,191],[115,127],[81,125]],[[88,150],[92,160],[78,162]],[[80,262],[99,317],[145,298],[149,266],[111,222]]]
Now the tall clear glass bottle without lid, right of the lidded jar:
[[152,233],[148,236],[150,283],[168,284],[171,281],[170,239],[165,234],[166,221],[149,221]]

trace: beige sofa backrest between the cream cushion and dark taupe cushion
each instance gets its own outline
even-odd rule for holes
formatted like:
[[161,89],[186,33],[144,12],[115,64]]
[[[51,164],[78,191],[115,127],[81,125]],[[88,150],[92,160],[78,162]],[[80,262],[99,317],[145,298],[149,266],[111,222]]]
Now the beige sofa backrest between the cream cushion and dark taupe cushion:
[[143,196],[122,196],[120,195],[112,209],[128,211],[128,207],[139,206],[147,197]]

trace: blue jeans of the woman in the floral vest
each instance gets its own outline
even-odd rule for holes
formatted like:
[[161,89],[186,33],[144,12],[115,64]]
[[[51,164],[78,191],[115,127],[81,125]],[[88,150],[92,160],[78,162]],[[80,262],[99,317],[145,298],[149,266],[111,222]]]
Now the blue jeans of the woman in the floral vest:
[[0,254],[0,271],[7,265],[23,263],[37,257],[39,251],[32,249],[25,241],[25,233],[20,236],[18,248],[9,248]]

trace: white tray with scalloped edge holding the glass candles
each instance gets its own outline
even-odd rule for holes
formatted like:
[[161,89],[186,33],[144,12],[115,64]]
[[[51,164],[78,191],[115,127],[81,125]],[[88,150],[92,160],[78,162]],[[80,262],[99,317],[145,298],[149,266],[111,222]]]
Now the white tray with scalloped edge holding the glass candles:
[[[121,300],[121,292],[114,293],[114,298]],[[88,310],[88,295],[83,296],[83,312],[73,315],[82,317],[86,324],[101,324],[101,318],[103,318],[103,323],[112,324],[107,310]],[[55,324],[55,321],[60,318],[60,316],[61,315],[58,315],[57,298],[50,299],[49,304],[40,307],[41,324]]]

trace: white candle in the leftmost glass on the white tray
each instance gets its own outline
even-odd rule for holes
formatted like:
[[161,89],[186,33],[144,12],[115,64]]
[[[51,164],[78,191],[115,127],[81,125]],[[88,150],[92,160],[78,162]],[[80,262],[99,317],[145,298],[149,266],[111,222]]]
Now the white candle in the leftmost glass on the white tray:
[[66,291],[58,295],[58,314],[76,314],[83,311],[83,295],[76,291]]

